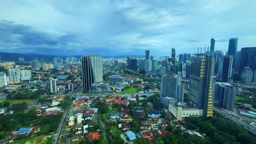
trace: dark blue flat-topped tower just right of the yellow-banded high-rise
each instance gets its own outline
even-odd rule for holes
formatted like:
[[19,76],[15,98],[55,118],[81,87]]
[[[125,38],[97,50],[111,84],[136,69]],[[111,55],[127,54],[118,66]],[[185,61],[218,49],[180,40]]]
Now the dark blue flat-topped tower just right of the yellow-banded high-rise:
[[232,82],[233,74],[233,56],[223,56],[222,73],[220,73],[222,82]]

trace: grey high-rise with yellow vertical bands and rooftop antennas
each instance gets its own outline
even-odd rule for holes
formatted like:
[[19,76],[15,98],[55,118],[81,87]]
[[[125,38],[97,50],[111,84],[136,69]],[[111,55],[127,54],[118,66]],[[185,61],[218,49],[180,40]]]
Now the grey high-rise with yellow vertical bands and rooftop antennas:
[[195,54],[191,62],[189,100],[197,109],[203,109],[203,116],[213,115],[213,98],[216,76],[214,58],[208,54]]

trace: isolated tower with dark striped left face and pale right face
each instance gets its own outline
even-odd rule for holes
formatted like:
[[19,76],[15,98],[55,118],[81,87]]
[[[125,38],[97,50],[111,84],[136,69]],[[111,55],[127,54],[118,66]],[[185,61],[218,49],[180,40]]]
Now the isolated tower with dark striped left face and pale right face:
[[103,68],[101,56],[82,57],[83,93],[90,93],[94,83],[103,81]]

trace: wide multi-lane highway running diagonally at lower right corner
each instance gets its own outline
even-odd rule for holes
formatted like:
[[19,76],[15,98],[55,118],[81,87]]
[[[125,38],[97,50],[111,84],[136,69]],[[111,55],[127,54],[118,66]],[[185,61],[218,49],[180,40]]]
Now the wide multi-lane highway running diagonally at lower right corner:
[[229,118],[231,121],[237,123],[238,125],[240,125],[242,128],[247,129],[248,131],[250,131],[251,133],[253,133],[254,135],[256,135],[256,129],[250,125],[250,124],[246,124],[243,123],[241,121],[241,119],[245,119],[242,116],[238,115],[235,112],[231,112],[231,111],[227,111],[227,110],[220,110],[218,107],[214,106],[214,111],[220,113],[221,115],[225,116],[226,118]]

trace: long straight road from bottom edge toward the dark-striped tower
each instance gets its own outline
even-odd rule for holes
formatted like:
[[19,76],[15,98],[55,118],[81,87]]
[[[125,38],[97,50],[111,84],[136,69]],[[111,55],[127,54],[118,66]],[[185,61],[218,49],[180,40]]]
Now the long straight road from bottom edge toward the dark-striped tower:
[[[82,84],[81,84],[77,89],[75,89],[75,91],[73,91],[73,93],[69,93],[68,96],[71,96],[71,99],[69,100],[70,103],[72,103],[72,97],[74,97],[74,95],[76,95],[76,94],[79,92],[79,90],[80,90],[81,87],[82,87]],[[67,95],[66,95],[66,96],[67,96]],[[71,105],[70,105],[69,107],[67,107],[67,109],[66,109],[66,111],[65,111],[65,113],[64,113],[64,115],[63,115],[63,117],[62,117],[62,119],[61,119],[61,124],[60,124],[60,127],[59,127],[58,131],[57,131],[57,135],[56,135],[56,137],[55,137],[54,144],[57,144],[57,142],[59,141],[60,134],[61,134],[63,125],[64,125],[64,123],[65,123],[65,121],[66,121],[67,113],[68,113],[70,107],[71,107]]]

